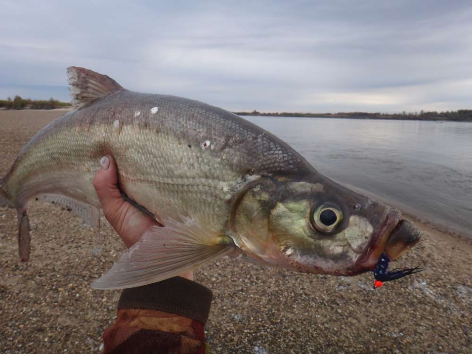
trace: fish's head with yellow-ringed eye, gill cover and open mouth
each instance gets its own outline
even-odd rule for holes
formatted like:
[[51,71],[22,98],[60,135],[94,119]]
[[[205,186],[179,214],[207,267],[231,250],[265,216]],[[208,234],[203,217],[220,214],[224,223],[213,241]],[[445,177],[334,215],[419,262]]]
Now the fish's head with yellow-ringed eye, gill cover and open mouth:
[[232,219],[236,244],[256,262],[299,272],[353,276],[420,239],[401,213],[322,175],[263,178]]

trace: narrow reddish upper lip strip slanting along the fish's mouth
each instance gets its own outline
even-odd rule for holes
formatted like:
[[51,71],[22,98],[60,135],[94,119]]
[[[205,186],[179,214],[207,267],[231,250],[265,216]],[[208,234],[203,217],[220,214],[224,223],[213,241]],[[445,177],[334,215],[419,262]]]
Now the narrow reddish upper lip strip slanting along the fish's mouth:
[[389,208],[377,234],[371,238],[369,245],[356,260],[355,268],[357,272],[368,272],[374,269],[385,243],[387,243],[389,236],[399,225],[400,221],[400,212],[396,209]]

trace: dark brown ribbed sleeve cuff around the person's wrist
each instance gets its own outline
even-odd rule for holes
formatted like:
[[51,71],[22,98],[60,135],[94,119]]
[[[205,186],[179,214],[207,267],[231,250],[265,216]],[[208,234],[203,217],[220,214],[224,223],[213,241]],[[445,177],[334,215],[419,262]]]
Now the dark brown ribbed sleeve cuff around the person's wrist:
[[174,277],[158,283],[124,289],[118,309],[154,309],[206,323],[210,311],[211,290],[191,280]]

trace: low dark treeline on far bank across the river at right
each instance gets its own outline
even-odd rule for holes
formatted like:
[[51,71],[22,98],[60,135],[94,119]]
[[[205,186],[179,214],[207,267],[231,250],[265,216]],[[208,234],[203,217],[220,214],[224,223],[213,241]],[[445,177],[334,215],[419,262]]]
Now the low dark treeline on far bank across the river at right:
[[273,117],[332,117],[332,118],[356,118],[356,119],[405,119],[405,120],[456,120],[456,121],[472,121],[472,109],[459,109],[457,111],[446,112],[424,112],[413,113],[367,113],[367,112],[342,112],[342,113],[293,113],[293,112],[277,112],[263,113],[258,111],[252,112],[234,112],[237,115],[260,115]]

